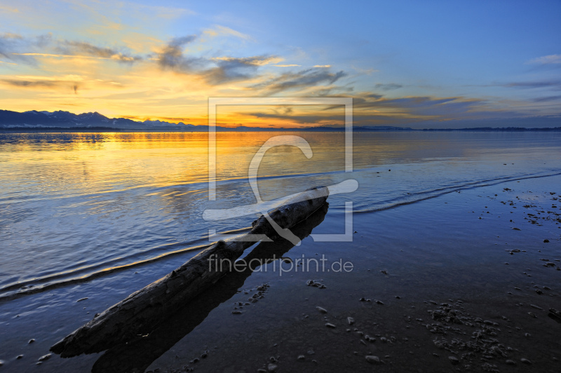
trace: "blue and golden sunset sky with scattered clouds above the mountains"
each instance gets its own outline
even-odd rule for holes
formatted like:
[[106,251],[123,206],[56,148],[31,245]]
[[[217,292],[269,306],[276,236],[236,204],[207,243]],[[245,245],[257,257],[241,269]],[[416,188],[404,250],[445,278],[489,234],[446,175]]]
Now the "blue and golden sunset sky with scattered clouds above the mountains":
[[[0,109],[208,122],[352,97],[355,126],[561,126],[561,1],[4,1]],[[231,105],[222,126],[342,126]]]

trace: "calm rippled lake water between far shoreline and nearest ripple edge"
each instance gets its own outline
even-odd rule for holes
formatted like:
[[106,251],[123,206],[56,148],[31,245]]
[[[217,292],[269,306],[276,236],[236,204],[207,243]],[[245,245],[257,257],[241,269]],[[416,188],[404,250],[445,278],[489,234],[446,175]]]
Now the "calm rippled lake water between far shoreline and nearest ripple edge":
[[561,172],[561,133],[356,133],[352,173],[341,133],[218,133],[211,203],[206,134],[2,134],[0,296],[189,250],[208,243],[208,229],[249,226],[255,217],[205,222],[203,211],[256,202],[249,163],[276,135],[304,137],[313,157],[267,151],[262,198],[356,179],[357,191],[330,197],[330,215],[345,201],[368,212]]

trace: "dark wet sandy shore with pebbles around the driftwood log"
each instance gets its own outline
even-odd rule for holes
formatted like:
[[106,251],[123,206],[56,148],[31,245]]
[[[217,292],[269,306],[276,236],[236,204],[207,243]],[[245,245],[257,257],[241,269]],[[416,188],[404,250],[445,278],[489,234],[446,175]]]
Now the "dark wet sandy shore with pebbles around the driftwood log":
[[[352,271],[288,271],[284,263],[280,276],[277,260],[217,284],[153,333],[105,353],[36,365],[95,312],[153,280],[139,279],[142,267],[50,290],[34,304],[15,299],[0,304],[11,346],[0,369],[560,372],[561,320],[548,311],[561,310],[559,185],[559,176],[522,179],[355,214],[353,242],[308,237],[279,249],[290,249],[283,257],[292,262],[325,257],[326,269],[341,260]],[[313,233],[342,233],[341,217],[328,211]],[[163,262],[162,273],[185,259]]]

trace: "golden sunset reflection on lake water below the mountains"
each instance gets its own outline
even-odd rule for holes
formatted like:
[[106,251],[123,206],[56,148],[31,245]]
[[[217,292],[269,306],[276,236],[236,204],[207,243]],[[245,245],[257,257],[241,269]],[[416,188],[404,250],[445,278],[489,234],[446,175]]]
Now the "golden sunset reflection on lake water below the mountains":
[[[217,179],[247,177],[266,140],[281,133],[217,133]],[[295,135],[295,133],[290,133]],[[308,160],[295,147],[267,151],[259,176],[344,168],[342,134],[306,134]],[[330,139],[333,140],[330,144]],[[339,165],[337,161],[340,161]],[[4,179],[43,193],[115,191],[208,181],[207,133],[21,134],[1,144]]]

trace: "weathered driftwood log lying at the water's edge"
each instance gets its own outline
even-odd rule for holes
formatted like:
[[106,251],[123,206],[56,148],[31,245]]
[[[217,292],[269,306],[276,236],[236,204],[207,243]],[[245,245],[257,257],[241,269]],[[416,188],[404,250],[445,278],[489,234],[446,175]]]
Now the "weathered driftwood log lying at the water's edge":
[[[269,212],[269,219],[280,229],[290,229],[318,210],[328,195],[329,190],[325,186],[308,189]],[[217,266],[217,260],[234,263],[245,249],[258,242],[252,237],[278,236],[269,219],[261,216],[244,236],[235,240],[220,240],[203,250],[167,276],[107,308],[51,346],[50,351],[62,358],[97,353],[134,339],[139,334],[151,332],[147,330],[147,325],[154,327],[162,315],[177,311],[178,304],[187,304],[231,271],[229,266]]]

